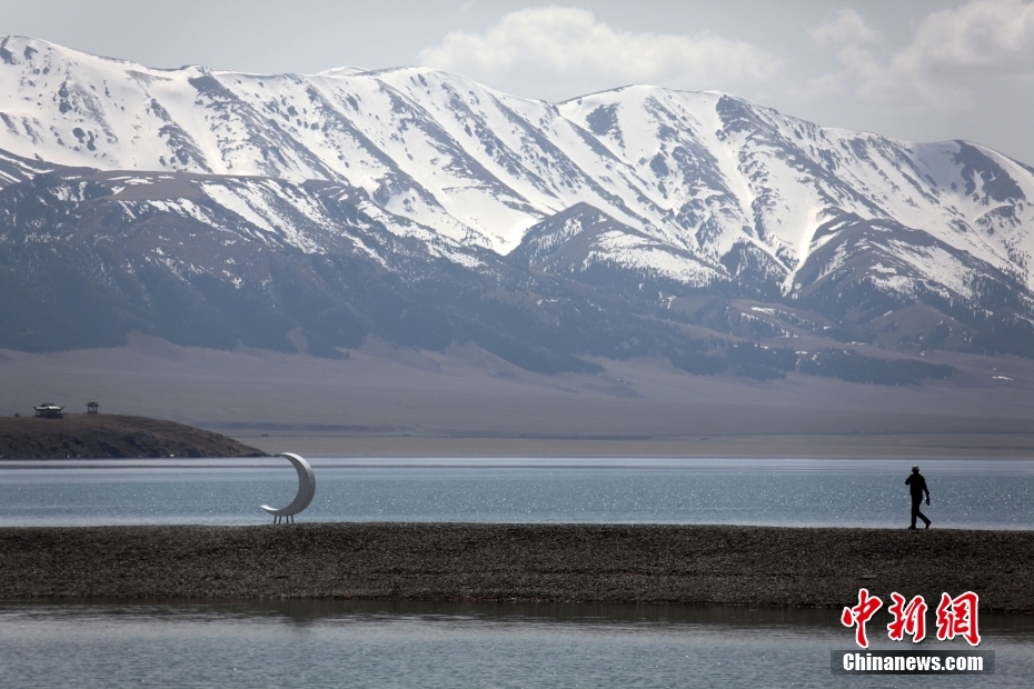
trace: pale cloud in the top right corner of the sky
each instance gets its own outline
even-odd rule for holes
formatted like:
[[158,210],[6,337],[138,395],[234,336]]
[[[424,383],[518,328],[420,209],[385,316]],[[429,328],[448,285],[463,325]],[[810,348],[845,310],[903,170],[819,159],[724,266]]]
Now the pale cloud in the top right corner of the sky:
[[809,31],[837,48],[841,70],[812,81],[814,92],[853,91],[871,104],[906,109],[963,109],[982,80],[1034,74],[1034,3],[972,0],[926,16],[903,48],[877,54],[879,40],[853,10]]

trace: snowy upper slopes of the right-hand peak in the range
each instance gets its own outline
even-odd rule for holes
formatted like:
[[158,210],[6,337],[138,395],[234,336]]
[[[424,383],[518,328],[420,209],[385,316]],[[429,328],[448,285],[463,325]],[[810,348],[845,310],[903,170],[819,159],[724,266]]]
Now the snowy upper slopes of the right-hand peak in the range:
[[700,251],[750,241],[785,269],[787,290],[815,231],[846,213],[924,230],[1032,284],[1034,176],[988,149],[826,129],[718,93],[630,87],[560,108],[637,161],[644,193]]

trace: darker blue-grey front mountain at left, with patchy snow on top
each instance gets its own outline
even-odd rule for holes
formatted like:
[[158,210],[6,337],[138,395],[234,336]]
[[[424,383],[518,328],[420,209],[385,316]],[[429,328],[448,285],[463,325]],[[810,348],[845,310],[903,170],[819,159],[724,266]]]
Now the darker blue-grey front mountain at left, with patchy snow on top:
[[399,237],[362,196],[325,181],[82,168],[9,183],[0,347],[118,346],[140,330],[340,357],[374,334],[419,349],[474,340],[555,372],[595,370],[575,355],[628,356],[632,340],[644,353],[678,343],[626,299],[435,234]]

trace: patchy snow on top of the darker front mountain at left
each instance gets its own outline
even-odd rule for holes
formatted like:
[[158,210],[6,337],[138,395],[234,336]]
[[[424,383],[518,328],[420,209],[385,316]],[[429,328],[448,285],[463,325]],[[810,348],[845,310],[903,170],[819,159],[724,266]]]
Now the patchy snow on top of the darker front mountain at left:
[[[10,158],[0,151],[0,161]],[[95,213],[91,217],[98,218],[97,222],[78,224],[103,241],[128,239],[107,228],[156,223],[168,228],[157,234],[155,246],[139,249],[176,274],[206,272],[232,280],[241,261],[247,262],[247,252],[238,251],[243,247],[352,256],[389,271],[399,270],[400,261],[409,258],[443,258],[469,269],[484,266],[476,247],[459,246],[394,217],[364,202],[360,190],[340,183],[295,184],[262,177],[81,168],[37,172],[30,186],[11,187],[23,201],[8,199],[0,208],[0,244],[74,242],[77,239],[67,234],[77,226],[71,218],[88,212]],[[372,213],[364,212],[364,207]],[[41,217],[40,209],[48,212]],[[411,237],[400,242],[385,229],[387,223],[409,223]],[[196,243],[198,228],[215,238],[215,244],[237,246],[225,264],[212,263],[208,251],[187,249]],[[190,260],[176,258],[185,251]]]

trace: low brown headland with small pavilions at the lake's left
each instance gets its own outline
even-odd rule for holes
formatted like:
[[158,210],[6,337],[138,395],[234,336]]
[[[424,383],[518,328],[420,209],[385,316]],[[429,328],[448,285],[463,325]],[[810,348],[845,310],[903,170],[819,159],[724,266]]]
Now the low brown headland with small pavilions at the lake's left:
[[146,417],[0,418],[0,459],[266,456],[219,433]]

